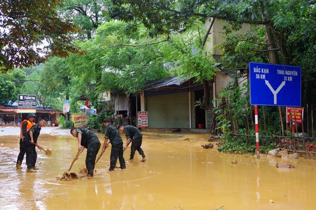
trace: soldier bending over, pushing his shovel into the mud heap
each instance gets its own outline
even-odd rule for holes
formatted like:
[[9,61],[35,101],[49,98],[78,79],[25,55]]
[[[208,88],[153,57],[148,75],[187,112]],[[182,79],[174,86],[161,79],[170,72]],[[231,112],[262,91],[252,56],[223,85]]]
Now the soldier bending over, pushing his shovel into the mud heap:
[[[78,150],[80,151],[79,155],[82,153],[84,148],[87,148],[85,167],[88,170],[88,178],[92,178],[95,166],[95,159],[101,147],[100,140],[98,139],[97,135],[85,128],[72,128],[70,130],[70,133],[71,135],[73,135],[73,137],[78,138]],[[77,159],[78,157],[74,157],[74,160]]]

